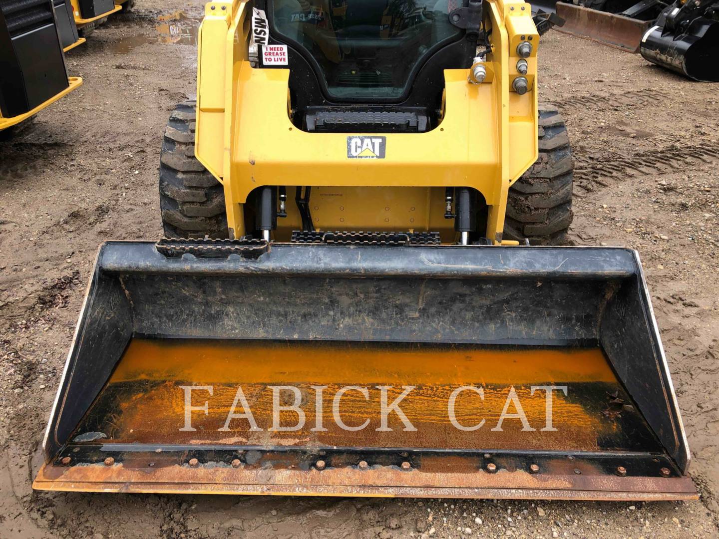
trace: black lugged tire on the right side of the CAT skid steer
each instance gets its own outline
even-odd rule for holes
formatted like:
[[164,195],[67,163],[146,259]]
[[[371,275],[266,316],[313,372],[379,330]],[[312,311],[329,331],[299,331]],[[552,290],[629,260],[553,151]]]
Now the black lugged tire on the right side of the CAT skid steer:
[[539,158],[509,188],[503,239],[564,245],[572,224],[572,151],[557,109],[539,107]]

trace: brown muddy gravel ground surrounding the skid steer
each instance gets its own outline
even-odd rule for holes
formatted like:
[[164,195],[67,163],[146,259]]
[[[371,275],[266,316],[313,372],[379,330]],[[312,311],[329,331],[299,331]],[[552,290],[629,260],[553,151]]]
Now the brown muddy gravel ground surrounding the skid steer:
[[543,38],[541,100],[561,109],[572,137],[572,239],[641,253],[700,501],[32,492],[96,249],[160,236],[162,129],[195,92],[201,4],[137,4],[68,53],[83,86],[0,142],[0,538],[719,535],[719,86],[557,32]]

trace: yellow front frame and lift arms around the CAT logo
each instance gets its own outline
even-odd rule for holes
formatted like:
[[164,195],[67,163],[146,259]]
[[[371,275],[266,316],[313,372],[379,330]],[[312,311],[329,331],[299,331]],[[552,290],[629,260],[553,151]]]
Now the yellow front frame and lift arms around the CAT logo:
[[[253,189],[309,185],[318,200],[311,203],[318,228],[431,229],[453,241],[444,188],[471,187],[487,202],[487,238],[501,243],[508,189],[539,151],[539,34],[530,4],[486,0],[492,52],[485,81],[470,83],[467,69],[445,70],[439,126],[421,134],[383,133],[385,158],[359,160],[347,158],[347,135],[362,133],[308,133],[293,125],[290,70],[249,63],[248,11],[247,0],[211,2],[199,31],[195,152],[224,185],[231,234],[245,232],[243,205]],[[519,95],[511,82],[519,76],[516,49],[523,40],[533,47],[526,59],[529,89]],[[348,204],[350,199],[357,203]],[[299,223],[290,206],[275,233],[280,239]]]

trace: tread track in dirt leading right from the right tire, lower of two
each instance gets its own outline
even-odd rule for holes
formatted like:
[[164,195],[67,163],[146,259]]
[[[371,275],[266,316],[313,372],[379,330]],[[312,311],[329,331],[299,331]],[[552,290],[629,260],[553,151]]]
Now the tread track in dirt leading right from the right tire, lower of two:
[[679,147],[672,145],[661,149],[645,150],[631,157],[620,155],[581,155],[574,157],[574,196],[582,198],[596,193],[627,174],[651,175],[671,170],[686,170],[701,161],[706,164],[719,162],[719,143],[704,146]]

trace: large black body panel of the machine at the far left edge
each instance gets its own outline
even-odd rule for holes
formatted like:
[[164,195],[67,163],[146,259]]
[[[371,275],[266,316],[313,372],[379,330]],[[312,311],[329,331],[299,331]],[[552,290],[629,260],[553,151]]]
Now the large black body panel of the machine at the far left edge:
[[24,114],[68,88],[52,0],[0,0],[0,111]]

